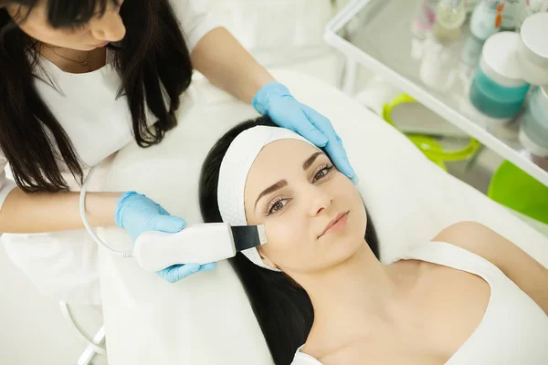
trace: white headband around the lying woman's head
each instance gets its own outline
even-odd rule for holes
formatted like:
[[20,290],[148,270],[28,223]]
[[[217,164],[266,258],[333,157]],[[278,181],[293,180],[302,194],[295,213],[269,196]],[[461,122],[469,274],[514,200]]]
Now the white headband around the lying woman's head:
[[[251,165],[267,144],[279,140],[300,140],[311,143],[292,130],[279,127],[257,126],[242,131],[228,147],[221,162],[217,186],[217,203],[223,222],[231,225],[247,225],[244,206],[246,181]],[[313,145],[313,144],[312,144]],[[255,265],[279,271],[266,265],[257,248],[242,251]]]

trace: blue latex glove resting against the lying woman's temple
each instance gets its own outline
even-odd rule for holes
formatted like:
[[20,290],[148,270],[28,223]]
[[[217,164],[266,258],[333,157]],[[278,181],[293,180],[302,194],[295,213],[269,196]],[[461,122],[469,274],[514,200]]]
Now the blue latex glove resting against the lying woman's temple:
[[358,183],[341,138],[332,123],[316,110],[301,104],[290,90],[279,82],[270,82],[259,89],[252,101],[253,108],[268,115],[280,127],[296,131],[318,147],[324,147],[337,169]]

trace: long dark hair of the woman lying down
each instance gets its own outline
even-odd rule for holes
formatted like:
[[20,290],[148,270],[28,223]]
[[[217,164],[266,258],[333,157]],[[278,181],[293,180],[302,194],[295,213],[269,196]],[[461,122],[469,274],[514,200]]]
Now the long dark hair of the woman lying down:
[[[239,133],[257,125],[274,126],[268,117],[248,120],[229,130],[205,158],[200,176],[200,208],[206,223],[222,222],[217,204],[219,170],[228,146]],[[379,246],[373,219],[368,216],[365,240],[374,255]],[[277,365],[290,365],[295,351],[307,339],[314,320],[311,299],[289,276],[259,267],[241,253],[230,259],[258,319],[270,354]]]

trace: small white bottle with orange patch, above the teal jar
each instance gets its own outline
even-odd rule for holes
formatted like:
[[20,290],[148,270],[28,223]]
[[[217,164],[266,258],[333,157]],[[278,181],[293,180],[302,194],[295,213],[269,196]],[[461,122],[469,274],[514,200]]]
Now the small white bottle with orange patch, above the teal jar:
[[501,29],[504,0],[482,0],[470,19],[470,31],[481,40],[486,40]]

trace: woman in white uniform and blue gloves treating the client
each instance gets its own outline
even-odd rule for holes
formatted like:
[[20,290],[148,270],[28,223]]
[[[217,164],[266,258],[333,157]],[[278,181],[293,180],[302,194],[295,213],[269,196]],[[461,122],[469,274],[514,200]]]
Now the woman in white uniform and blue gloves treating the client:
[[[63,292],[97,277],[82,275],[96,253],[82,245],[94,243],[73,238],[83,228],[82,179],[132,140],[143,148],[163,141],[194,69],[325,146],[355,178],[330,121],[294,99],[206,8],[204,0],[0,0],[0,232],[25,246],[12,259],[35,283],[55,281]],[[8,163],[16,184],[5,179]],[[86,206],[93,226],[118,224],[133,240],[185,225],[135,192],[89,193]],[[173,283],[213,268],[158,274]]]

